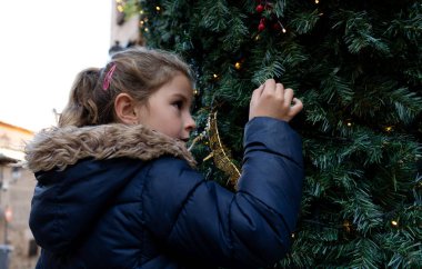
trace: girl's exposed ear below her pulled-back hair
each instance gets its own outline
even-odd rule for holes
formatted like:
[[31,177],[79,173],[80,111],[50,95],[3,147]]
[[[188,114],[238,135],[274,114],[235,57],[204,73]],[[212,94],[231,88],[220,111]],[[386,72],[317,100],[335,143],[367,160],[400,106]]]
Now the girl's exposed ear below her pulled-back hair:
[[119,121],[133,124],[138,122],[137,102],[128,93],[119,93],[114,100],[114,112]]

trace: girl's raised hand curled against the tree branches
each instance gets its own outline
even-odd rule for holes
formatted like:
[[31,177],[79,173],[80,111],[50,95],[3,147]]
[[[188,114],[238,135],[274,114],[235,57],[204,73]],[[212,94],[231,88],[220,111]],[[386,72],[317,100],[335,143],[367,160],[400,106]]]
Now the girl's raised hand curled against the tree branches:
[[293,98],[293,90],[269,79],[252,93],[249,120],[254,117],[271,117],[290,121],[303,108],[301,100]]

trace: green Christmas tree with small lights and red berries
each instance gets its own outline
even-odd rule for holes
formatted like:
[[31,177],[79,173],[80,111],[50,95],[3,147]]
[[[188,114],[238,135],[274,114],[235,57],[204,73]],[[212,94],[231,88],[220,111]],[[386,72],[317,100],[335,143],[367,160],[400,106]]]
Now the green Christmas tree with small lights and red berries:
[[[305,183],[275,268],[422,266],[422,4],[392,0],[138,0],[147,46],[198,76],[193,152],[233,188],[251,92],[274,78],[304,103]],[[212,157],[212,158],[211,158]]]

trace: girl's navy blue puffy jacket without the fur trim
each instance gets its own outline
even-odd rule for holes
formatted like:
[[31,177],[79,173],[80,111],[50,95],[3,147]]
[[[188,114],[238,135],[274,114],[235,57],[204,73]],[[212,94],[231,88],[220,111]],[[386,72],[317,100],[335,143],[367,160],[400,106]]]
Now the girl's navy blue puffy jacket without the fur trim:
[[82,158],[36,176],[38,269],[259,268],[289,251],[302,148],[287,122],[248,122],[234,193],[173,156]]

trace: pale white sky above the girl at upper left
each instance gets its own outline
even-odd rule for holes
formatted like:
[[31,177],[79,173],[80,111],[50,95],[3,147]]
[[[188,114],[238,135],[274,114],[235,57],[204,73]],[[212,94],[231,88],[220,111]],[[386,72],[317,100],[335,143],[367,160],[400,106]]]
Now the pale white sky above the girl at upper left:
[[108,59],[112,0],[0,0],[0,121],[56,124],[76,74]]

